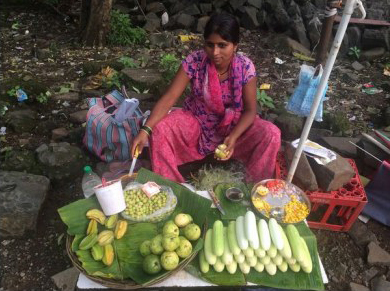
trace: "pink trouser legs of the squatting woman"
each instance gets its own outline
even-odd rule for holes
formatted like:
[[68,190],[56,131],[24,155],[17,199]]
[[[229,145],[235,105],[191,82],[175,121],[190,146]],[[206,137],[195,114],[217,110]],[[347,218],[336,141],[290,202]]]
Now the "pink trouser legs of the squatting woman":
[[[150,137],[152,169],[173,181],[184,182],[178,166],[205,157],[198,151],[201,126],[195,116],[177,109],[153,129]],[[280,130],[272,123],[256,119],[236,142],[233,157],[245,165],[246,180],[258,182],[274,176],[280,148]]]

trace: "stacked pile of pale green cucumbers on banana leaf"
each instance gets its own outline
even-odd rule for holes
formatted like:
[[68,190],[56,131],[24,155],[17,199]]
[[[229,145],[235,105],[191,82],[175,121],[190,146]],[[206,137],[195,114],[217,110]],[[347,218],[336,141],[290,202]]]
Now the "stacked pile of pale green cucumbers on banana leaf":
[[204,248],[199,252],[199,265],[203,273],[213,266],[216,272],[225,268],[230,274],[237,271],[248,274],[251,268],[264,270],[271,276],[277,270],[294,272],[301,269],[311,273],[312,259],[305,240],[293,224],[285,230],[271,218],[256,221],[255,214],[248,211],[224,226],[221,220],[214,222],[206,232]]

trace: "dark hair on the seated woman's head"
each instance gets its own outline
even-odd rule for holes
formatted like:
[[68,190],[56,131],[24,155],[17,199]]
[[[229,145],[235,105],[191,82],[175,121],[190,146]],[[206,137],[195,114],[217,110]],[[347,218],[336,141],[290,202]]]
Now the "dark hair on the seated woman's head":
[[240,41],[240,26],[237,19],[228,13],[214,14],[210,17],[204,29],[204,39],[213,33],[234,44]]

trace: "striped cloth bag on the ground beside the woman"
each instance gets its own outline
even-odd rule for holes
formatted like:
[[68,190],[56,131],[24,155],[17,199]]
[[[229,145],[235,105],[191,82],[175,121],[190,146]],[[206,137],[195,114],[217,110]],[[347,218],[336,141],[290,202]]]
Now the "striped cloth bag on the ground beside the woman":
[[89,110],[83,144],[102,161],[130,159],[130,148],[146,117],[137,106],[133,116],[122,122],[115,113],[125,97],[117,90],[102,98],[88,98]]

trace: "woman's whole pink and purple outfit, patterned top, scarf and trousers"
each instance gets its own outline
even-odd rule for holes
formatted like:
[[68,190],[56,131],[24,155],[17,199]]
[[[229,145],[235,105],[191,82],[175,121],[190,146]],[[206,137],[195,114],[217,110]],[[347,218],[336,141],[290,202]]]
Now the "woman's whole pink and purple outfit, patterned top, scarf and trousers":
[[[176,182],[184,182],[179,165],[213,153],[230,134],[243,110],[242,88],[256,76],[253,63],[242,55],[234,57],[229,77],[218,83],[204,51],[190,54],[182,65],[191,79],[191,95],[183,109],[154,126],[150,137],[152,170]],[[232,158],[245,164],[247,181],[257,182],[273,177],[279,148],[280,130],[256,116],[237,139]]]

